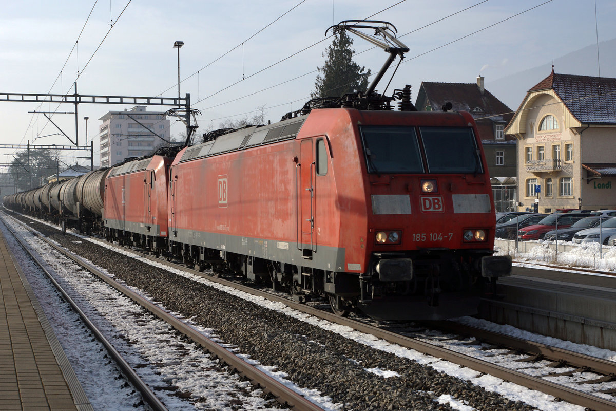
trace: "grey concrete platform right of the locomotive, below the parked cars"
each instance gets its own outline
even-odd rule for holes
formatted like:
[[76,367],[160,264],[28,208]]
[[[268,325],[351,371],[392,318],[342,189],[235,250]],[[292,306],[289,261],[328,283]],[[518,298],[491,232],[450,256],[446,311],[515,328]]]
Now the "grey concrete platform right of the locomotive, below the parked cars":
[[616,351],[616,277],[513,267],[484,300],[481,318],[540,335]]

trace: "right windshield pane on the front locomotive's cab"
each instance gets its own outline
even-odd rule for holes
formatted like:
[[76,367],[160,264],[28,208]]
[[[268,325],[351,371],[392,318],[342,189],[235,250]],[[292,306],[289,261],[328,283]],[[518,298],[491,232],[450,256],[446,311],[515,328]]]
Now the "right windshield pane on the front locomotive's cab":
[[429,173],[481,173],[471,128],[419,127]]

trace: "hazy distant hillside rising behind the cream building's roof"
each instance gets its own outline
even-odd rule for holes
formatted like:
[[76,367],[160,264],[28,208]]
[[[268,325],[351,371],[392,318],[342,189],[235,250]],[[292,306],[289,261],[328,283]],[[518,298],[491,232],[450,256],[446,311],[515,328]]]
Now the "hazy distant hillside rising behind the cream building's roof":
[[[599,57],[601,76],[616,77],[616,38],[599,43]],[[546,78],[551,71],[552,60],[549,60],[537,67],[495,79],[490,83],[486,79],[485,88],[512,110],[516,110],[526,92]],[[597,45],[592,44],[554,59],[554,71],[562,74],[598,76]]]

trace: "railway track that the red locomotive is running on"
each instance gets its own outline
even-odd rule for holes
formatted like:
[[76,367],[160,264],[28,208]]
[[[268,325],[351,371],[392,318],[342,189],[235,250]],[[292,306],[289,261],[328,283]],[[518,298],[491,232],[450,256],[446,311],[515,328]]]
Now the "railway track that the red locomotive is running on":
[[[124,251],[126,250],[124,247],[120,247],[117,245],[113,245],[116,248],[121,248]],[[464,365],[465,367],[469,367],[472,370],[476,370],[481,373],[486,373],[489,375],[496,376],[505,381],[511,381],[517,383],[521,386],[525,386],[530,389],[536,389],[546,394],[550,394],[557,399],[562,399],[567,402],[571,402],[572,404],[582,405],[591,410],[602,411],[602,410],[612,410],[616,407],[616,402],[614,402],[614,398],[609,395],[609,393],[588,393],[588,383],[590,385],[595,382],[609,381],[611,376],[616,374],[616,370],[614,364],[609,361],[604,361],[600,359],[594,359],[593,357],[582,356],[580,354],[576,354],[575,352],[569,352],[562,349],[557,349],[554,347],[547,346],[546,344],[537,344],[532,343],[532,341],[514,341],[507,336],[503,335],[495,335],[494,333],[487,333],[485,330],[476,330],[472,328],[468,328],[462,325],[455,325],[457,329],[456,333],[462,335],[472,335],[477,340],[485,340],[490,341],[490,344],[493,346],[506,346],[508,351],[522,351],[527,353],[527,362],[534,362],[541,359],[547,359],[549,362],[554,364],[554,367],[564,367],[566,365],[570,365],[573,367],[573,370],[567,370],[561,375],[566,373],[573,374],[576,370],[583,371],[588,373],[591,369],[594,372],[599,373],[594,378],[586,378],[585,385],[580,385],[580,388],[575,388],[570,385],[562,385],[559,383],[555,383],[550,381],[549,378],[556,376],[557,374],[553,372],[551,375],[549,373],[543,376],[537,375],[529,375],[527,373],[521,372],[519,370],[512,370],[507,367],[503,367],[501,365],[493,364],[490,360],[479,359],[476,357],[469,356],[467,354],[463,354],[461,352],[455,352],[451,349],[444,348],[439,346],[438,343],[432,344],[426,341],[422,341],[421,338],[411,338],[408,335],[403,335],[400,332],[394,332],[391,330],[386,330],[382,327],[377,327],[373,324],[366,324],[365,322],[355,320],[355,319],[344,319],[333,315],[329,312],[324,312],[319,309],[315,309],[314,307],[307,306],[306,304],[299,304],[294,301],[290,301],[288,298],[284,298],[282,296],[272,295],[265,290],[256,290],[253,287],[248,287],[247,285],[241,285],[237,282],[230,282],[224,278],[215,278],[211,275],[200,273],[198,271],[187,269],[184,266],[179,266],[172,262],[165,262],[159,258],[154,258],[149,256],[148,254],[140,253],[136,250],[131,250],[131,253],[135,255],[142,256],[143,258],[151,259],[161,264],[165,264],[171,267],[180,268],[184,271],[191,272],[193,275],[200,275],[201,277],[207,277],[208,280],[220,283],[222,285],[227,285],[229,287],[237,288],[238,290],[245,291],[251,295],[256,295],[262,298],[267,298],[270,301],[277,301],[280,303],[284,303],[293,309],[298,311],[305,312],[309,315],[314,315],[315,317],[319,317],[321,319],[328,320],[330,322],[334,322],[336,324],[347,325],[348,327],[353,328],[354,330],[358,330],[363,333],[368,333],[370,335],[376,336],[378,338],[383,338],[383,340],[389,341],[389,343],[398,344],[399,346],[405,348],[415,349],[416,351],[423,352],[424,354],[431,355],[436,358],[448,360],[455,364]],[[440,324],[440,327],[445,327],[445,324]],[[453,327],[453,326],[452,326]],[[480,334],[481,333],[481,334]],[[519,353],[518,353],[519,354]],[[556,369],[556,368],[555,368]],[[546,378],[547,377],[547,378]],[[579,380],[579,378],[578,378]],[[577,381],[580,382],[580,381]],[[575,385],[575,384],[573,384]],[[605,390],[610,391],[610,390]]]

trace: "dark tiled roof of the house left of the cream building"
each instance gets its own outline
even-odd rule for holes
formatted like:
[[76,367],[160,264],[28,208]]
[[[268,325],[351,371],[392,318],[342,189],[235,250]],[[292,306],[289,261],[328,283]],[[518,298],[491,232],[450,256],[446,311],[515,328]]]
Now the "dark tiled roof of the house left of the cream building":
[[[475,118],[490,117],[492,121],[508,123],[513,117],[511,108],[497,99],[491,92],[484,89],[482,94],[475,83],[432,83],[422,81],[421,87],[432,106],[438,111],[446,102],[451,102],[453,110],[464,110]],[[479,107],[481,112],[475,112]]]

